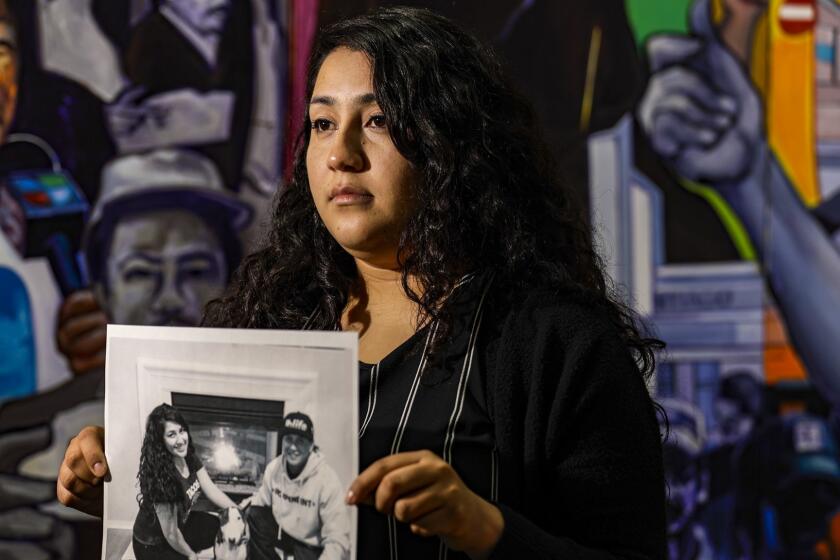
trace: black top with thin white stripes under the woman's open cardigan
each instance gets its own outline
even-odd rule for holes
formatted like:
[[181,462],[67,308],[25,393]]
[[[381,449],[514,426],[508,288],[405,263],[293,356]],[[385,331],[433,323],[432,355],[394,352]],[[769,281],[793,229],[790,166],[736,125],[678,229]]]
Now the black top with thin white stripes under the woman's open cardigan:
[[[495,499],[493,424],[475,350],[483,311],[481,284],[468,281],[454,294],[452,332],[432,360],[426,350],[434,324],[379,363],[360,364],[361,470],[386,455],[427,449],[452,464],[473,492]],[[358,536],[358,558],[467,558],[447,550],[440,539],[414,535],[407,524],[372,507],[359,509]]]

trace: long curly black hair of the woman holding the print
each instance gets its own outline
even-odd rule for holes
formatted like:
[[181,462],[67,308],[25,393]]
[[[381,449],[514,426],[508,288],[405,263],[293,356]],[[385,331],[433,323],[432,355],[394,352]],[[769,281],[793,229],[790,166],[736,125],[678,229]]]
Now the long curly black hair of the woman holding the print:
[[[603,306],[647,377],[660,343],[642,334],[611,288],[530,103],[509,84],[489,47],[432,11],[378,9],[321,31],[308,97],[324,59],[339,48],[371,61],[374,93],[394,145],[421,177],[416,199],[424,203],[398,248],[402,285],[418,304],[418,324],[438,320],[439,339],[445,338],[452,321],[447,295],[465,273],[492,271],[503,290],[551,286]],[[300,328],[310,316],[315,328],[339,324],[357,271],[310,195],[310,132],[307,114],[266,242],[208,305],[205,325]]]

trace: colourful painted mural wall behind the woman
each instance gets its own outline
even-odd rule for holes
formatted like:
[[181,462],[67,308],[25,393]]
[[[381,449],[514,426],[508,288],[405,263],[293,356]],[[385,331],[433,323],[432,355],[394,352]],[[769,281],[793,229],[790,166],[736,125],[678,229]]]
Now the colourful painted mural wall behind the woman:
[[[494,46],[668,343],[670,557],[840,558],[840,1],[399,3]],[[0,557],[98,557],[53,492],[105,324],[197,324],[379,4],[0,0]]]

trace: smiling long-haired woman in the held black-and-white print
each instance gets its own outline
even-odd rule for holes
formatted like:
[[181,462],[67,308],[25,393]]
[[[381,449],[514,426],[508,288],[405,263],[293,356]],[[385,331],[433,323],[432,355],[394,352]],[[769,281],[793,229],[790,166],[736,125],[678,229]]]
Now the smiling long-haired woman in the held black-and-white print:
[[132,545],[138,560],[194,560],[197,552],[213,546],[219,519],[192,511],[202,492],[219,508],[236,507],[210,480],[187,422],[168,404],[156,406],[146,420],[137,481],[140,512]]

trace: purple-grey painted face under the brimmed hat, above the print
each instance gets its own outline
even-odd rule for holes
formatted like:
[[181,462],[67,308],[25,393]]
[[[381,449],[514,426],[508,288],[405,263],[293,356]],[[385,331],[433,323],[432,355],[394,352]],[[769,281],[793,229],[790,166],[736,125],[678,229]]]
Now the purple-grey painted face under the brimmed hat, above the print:
[[215,234],[195,214],[160,210],[121,221],[108,258],[106,306],[125,325],[196,326],[225,287]]

